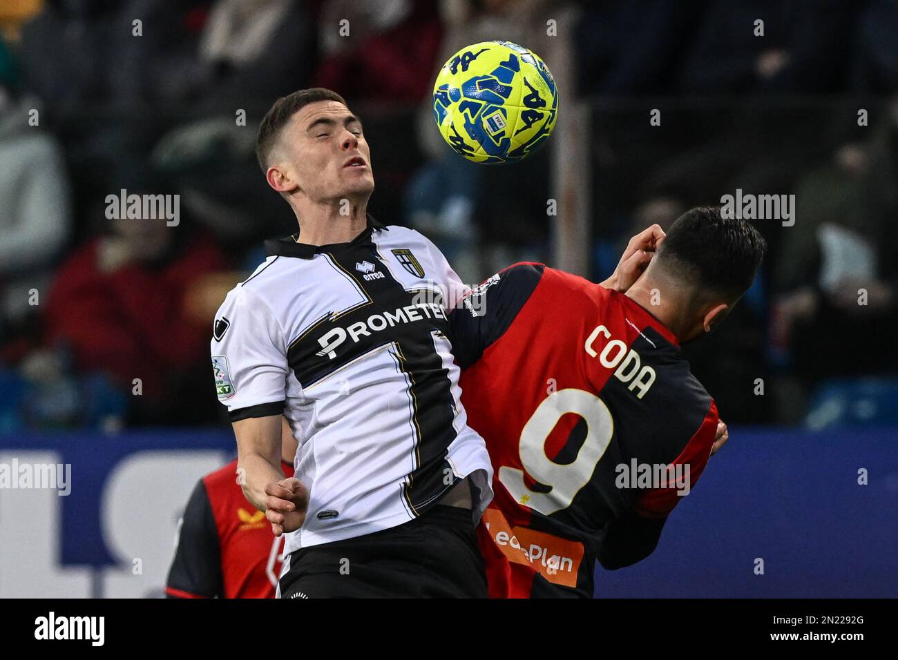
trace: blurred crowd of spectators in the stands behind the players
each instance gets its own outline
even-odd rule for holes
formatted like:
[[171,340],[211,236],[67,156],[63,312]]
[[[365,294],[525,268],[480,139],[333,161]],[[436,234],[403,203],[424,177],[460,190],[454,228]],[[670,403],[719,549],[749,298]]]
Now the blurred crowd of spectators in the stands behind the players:
[[[548,63],[559,123],[567,103],[593,108],[596,281],[647,224],[736,189],[796,196],[796,224],[759,221],[770,258],[726,331],[685,348],[725,418],[887,417],[891,0],[3,0],[0,432],[221,418],[212,315],[261,240],[295,231],[253,145],[296,89],[348,100],[372,148],[370,210],[427,233],[465,281],[550,260],[550,147],[475,165],[433,125],[439,67],[492,39]],[[110,217],[120,190],[178,195],[178,223]],[[845,410],[858,392],[867,408]]]

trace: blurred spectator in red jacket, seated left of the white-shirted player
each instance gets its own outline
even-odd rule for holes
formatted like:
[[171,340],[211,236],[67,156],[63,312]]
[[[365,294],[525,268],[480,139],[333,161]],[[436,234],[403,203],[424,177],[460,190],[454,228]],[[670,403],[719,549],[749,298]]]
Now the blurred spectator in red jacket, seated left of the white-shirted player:
[[108,235],[66,260],[49,293],[49,344],[65,346],[77,371],[105,372],[139,392],[137,423],[199,421],[208,409],[201,375],[213,319],[196,293],[220,275],[224,258],[203,236],[181,238],[182,229],[164,219],[113,220]]

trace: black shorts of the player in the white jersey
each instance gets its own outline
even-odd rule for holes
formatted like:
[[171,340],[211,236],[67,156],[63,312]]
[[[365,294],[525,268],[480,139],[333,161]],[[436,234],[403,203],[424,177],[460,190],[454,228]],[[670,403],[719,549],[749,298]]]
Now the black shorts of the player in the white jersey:
[[436,505],[408,523],[300,548],[281,598],[486,598],[471,511]]

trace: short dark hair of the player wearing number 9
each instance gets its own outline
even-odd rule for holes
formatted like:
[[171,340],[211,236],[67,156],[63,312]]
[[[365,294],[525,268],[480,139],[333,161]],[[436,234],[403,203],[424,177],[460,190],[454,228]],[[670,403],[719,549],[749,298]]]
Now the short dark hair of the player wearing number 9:
[[671,225],[656,258],[674,275],[732,298],[752,286],[766,250],[752,224],[721,216],[720,207],[696,207]]

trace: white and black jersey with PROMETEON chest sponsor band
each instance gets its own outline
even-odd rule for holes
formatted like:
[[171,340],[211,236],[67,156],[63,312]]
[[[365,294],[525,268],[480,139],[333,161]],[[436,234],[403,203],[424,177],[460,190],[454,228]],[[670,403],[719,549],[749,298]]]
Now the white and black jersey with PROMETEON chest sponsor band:
[[285,552],[405,523],[468,475],[480,519],[492,469],[460,401],[445,310],[465,287],[442,253],[370,216],[352,242],[266,251],[216,314],[212,364],[232,421],[283,413],[299,443],[310,501]]

